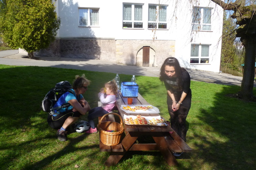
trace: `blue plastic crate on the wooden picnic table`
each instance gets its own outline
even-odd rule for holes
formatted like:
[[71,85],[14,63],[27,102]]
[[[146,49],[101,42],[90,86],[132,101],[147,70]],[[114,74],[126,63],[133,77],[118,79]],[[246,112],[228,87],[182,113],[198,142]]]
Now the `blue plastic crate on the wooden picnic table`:
[[122,82],[121,93],[124,97],[138,97],[138,85],[134,82]]

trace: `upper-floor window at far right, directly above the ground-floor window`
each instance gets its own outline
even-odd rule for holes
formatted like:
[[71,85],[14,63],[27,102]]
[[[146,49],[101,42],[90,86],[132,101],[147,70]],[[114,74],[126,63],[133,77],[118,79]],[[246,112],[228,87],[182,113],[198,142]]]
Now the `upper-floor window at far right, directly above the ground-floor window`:
[[211,30],[211,8],[193,7],[192,29],[197,31]]

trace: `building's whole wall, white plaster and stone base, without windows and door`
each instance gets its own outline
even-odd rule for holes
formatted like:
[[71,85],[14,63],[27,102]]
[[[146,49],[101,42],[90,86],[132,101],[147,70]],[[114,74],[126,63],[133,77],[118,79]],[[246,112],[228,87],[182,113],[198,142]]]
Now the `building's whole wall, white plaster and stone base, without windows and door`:
[[[109,60],[142,66],[143,46],[150,47],[150,67],[170,56],[182,67],[219,72],[223,10],[210,0],[53,0],[61,18],[56,41],[38,55]],[[143,28],[123,28],[123,4],[143,5]],[[167,6],[167,29],[147,28],[149,4]],[[212,8],[211,31],[192,31],[192,7]],[[79,8],[99,8],[99,26],[79,26]],[[210,44],[208,63],[192,64],[191,44]]]

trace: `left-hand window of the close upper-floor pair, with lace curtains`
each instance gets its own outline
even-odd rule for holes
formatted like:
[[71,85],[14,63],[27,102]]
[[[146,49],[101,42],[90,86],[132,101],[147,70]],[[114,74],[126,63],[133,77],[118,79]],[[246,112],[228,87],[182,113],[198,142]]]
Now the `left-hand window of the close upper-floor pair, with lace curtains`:
[[123,28],[143,28],[142,5],[124,4]]

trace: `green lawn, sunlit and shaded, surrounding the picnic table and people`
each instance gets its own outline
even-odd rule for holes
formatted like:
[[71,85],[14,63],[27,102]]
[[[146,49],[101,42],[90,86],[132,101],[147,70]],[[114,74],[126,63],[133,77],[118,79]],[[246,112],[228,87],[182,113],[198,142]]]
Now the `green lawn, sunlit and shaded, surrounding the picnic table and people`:
[[[0,170],[73,170],[75,165],[86,170],[255,169],[256,104],[227,97],[238,92],[238,86],[192,81],[187,144],[194,151],[179,157],[177,167],[169,167],[159,152],[128,152],[116,166],[105,167],[110,153],[100,152],[99,133],[73,133],[67,142],[58,141],[40,103],[55,83],[73,82],[83,73],[91,80],[84,98],[91,108],[97,107],[99,89],[115,74],[0,65]],[[132,75],[119,76],[129,81]],[[164,85],[157,77],[136,78],[139,93],[168,120]]]

